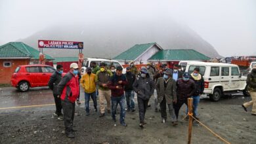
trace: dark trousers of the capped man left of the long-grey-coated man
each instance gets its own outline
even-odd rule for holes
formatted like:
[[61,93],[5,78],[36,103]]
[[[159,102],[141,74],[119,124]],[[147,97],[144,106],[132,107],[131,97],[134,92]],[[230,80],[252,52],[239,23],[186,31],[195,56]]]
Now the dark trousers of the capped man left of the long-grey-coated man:
[[148,107],[149,99],[142,99],[138,97],[137,100],[138,100],[138,107],[139,107],[140,123],[144,123],[146,108]]

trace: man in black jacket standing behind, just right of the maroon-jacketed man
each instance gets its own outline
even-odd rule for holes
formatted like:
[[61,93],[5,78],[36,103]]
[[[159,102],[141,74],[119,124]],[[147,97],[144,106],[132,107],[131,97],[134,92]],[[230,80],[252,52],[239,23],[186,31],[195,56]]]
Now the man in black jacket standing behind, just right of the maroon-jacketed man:
[[135,100],[134,100],[134,90],[133,83],[135,82],[136,76],[131,73],[131,67],[126,68],[125,77],[127,79],[127,84],[125,85],[125,97],[127,103],[127,111],[135,111]]

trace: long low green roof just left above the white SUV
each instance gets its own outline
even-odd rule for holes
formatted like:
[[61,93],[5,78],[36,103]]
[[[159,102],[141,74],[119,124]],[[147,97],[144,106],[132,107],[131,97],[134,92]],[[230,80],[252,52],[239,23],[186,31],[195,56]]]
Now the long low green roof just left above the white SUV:
[[168,61],[181,61],[181,60],[210,60],[211,58],[192,49],[169,49],[160,50],[148,60],[168,60]]

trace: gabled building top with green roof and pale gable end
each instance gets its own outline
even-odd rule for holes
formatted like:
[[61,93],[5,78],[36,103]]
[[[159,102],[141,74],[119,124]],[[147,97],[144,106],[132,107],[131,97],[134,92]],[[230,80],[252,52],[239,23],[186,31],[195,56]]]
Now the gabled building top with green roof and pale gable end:
[[114,57],[113,60],[118,60],[121,64],[129,62],[146,63],[149,58],[160,50],[163,50],[163,48],[157,43],[135,45]]

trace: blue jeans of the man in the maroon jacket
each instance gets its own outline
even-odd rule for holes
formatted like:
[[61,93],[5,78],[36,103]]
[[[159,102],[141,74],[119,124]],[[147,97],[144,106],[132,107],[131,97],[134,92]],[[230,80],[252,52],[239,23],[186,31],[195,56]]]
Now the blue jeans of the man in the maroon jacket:
[[121,124],[123,124],[125,122],[125,95],[122,95],[119,97],[111,96],[111,101],[112,101],[112,118],[116,120],[116,108],[119,103],[121,107],[119,121]]

